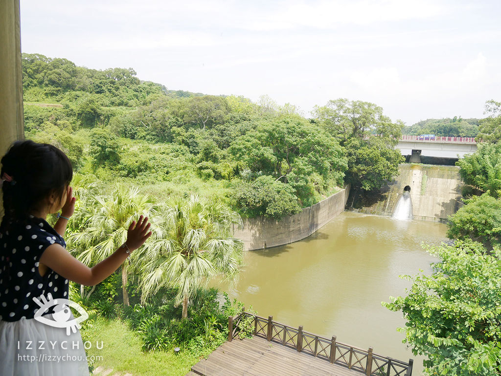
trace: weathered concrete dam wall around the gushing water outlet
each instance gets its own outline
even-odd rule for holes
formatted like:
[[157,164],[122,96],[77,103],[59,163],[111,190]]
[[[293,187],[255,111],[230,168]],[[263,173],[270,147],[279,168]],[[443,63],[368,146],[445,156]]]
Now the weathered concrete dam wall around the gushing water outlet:
[[368,214],[392,216],[399,198],[410,188],[413,219],[445,222],[462,203],[459,167],[401,164],[399,175],[374,197],[350,197],[349,208]]

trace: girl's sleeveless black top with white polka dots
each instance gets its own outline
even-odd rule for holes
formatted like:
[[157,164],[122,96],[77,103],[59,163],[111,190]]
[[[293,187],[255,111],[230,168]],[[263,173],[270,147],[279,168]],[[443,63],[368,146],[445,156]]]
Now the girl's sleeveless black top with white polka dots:
[[[38,270],[47,247],[54,243],[66,247],[66,242],[49,223],[34,216],[7,228],[0,231],[0,320],[33,318],[40,308],[33,297],[51,293],[54,299],[68,299],[67,279],[50,268],[44,276]],[[52,312],[49,308],[42,315]]]

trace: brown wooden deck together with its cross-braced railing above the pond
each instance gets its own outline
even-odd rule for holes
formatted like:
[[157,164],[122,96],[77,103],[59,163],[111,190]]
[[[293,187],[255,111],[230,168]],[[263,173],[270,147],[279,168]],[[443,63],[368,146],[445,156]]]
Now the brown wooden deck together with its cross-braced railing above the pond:
[[[254,330],[253,330],[254,329]],[[240,331],[252,338],[238,338]],[[186,376],[411,376],[401,361],[248,312],[228,317],[228,340]]]

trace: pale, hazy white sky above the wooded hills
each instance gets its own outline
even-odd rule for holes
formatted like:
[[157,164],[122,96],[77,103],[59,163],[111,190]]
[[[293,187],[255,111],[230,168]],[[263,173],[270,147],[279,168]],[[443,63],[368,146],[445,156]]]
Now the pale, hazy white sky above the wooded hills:
[[482,118],[501,101],[501,2],[21,0],[21,49],[311,116],[348,98],[393,121]]

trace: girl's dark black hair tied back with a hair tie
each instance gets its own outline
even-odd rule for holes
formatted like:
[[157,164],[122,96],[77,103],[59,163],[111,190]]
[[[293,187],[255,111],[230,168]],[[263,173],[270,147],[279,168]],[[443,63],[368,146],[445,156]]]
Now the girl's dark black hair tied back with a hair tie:
[[54,193],[62,197],[73,177],[71,162],[53,145],[31,140],[14,142],[2,158],[0,177],[6,173],[13,181],[4,181],[5,219],[28,217],[31,209]]

